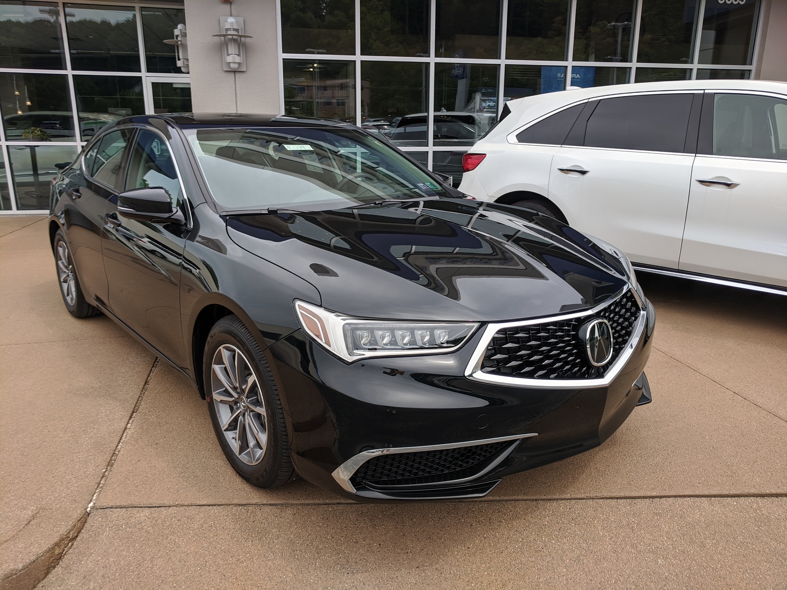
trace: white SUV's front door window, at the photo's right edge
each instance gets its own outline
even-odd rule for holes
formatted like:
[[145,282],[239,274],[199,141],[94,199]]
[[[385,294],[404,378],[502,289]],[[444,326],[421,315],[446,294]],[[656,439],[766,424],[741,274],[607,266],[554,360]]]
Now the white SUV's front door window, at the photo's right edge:
[[787,160],[787,100],[754,94],[715,94],[713,153]]

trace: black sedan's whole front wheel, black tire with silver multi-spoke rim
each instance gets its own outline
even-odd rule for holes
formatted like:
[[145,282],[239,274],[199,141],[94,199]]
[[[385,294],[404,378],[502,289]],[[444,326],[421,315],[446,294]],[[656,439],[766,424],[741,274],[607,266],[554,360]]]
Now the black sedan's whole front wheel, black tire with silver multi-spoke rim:
[[[242,358],[242,361],[246,362],[249,369],[253,371],[254,381],[257,385],[256,388],[254,385],[249,386],[246,388],[246,393],[243,393],[244,383],[248,384],[251,381],[251,374],[246,369],[236,371],[242,373],[242,376],[238,379],[240,382],[238,389],[235,389],[235,394],[237,394],[235,402],[222,402],[220,397],[226,399],[227,393],[234,394],[229,392],[226,387],[223,388],[220,378],[214,374],[214,357],[221,363],[224,358],[221,356],[221,351],[231,351],[233,348],[242,352],[242,357],[245,357]],[[231,364],[233,363],[226,363],[226,365]],[[237,366],[235,365],[235,367]],[[257,339],[238,319],[237,315],[227,315],[212,327],[210,334],[208,334],[208,340],[205,342],[202,367],[205,397],[208,400],[213,430],[216,431],[216,438],[221,450],[224,451],[224,456],[227,457],[238,475],[258,488],[276,488],[292,481],[295,478],[295,470],[290,458],[290,441],[287,436],[279,392],[260,345],[257,344]],[[232,381],[232,374],[225,373],[224,377],[229,377],[231,385],[235,385],[235,381]],[[214,384],[219,384],[219,386]],[[219,394],[219,397],[216,396],[216,393]],[[247,396],[248,399],[246,399]],[[241,399],[244,404],[247,404],[244,407],[238,401]],[[261,404],[262,412],[259,411],[260,401],[263,402]],[[229,409],[227,410],[226,407]],[[227,415],[231,417],[238,409],[241,409],[241,413],[236,422],[227,422]],[[224,419],[220,416],[221,412],[225,414]],[[264,416],[264,424],[260,416]],[[243,422],[246,427],[241,427],[242,420],[248,422],[248,424]],[[227,431],[222,428],[224,423],[231,425],[227,427]],[[257,437],[252,436],[259,432],[260,426],[264,426],[266,437],[264,447]],[[235,430],[235,437],[231,436],[233,430]],[[231,443],[233,440],[235,442]],[[238,443],[238,440],[241,442]],[[240,449],[244,448],[244,440],[246,441],[246,450],[241,453]],[[237,448],[233,448],[233,444],[238,444]],[[258,450],[262,451],[260,459],[254,458],[253,445],[255,444]],[[254,460],[257,460],[258,463],[249,463]]]

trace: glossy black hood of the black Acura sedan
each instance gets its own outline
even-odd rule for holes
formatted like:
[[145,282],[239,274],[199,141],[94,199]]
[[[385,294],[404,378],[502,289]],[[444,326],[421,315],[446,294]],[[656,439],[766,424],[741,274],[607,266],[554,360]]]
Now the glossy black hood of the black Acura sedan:
[[506,320],[590,308],[626,285],[613,256],[526,209],[465,199],[227,216],[231,239],[346,315]]

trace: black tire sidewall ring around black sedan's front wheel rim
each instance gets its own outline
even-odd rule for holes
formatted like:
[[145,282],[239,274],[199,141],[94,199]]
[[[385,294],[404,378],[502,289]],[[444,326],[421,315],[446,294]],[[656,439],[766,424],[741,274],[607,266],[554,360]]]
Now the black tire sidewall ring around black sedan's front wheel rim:
[[[264,398],[265,404],[265,423],[267,427],[268,440],[265,447],[265,454],[262,460],[257,465],[248,465],[235,454],[231,448],[224,432],[221,430],[221,424],[214,402],[212,399],[212,361],[216,350],[221,345],[233,345],[240,348],[249,363],[253,365],[254,373],[257,375],[257,383],[260,386],[260,395]],[[254,347],[257,348],[257,347]],[[218,439],[221,450],[230,462],[231,466],[238,474],[259,487],[268,487],[273,485],[279,473],[279,455],[281,454],[282,447],[282,433],[279,432],[279,421],[274,415],[277,411],[277,401],[272,395],[272,376],[267,367],[263,367],[257,354],[253,351],[253,346],[249,345],[246,341],[246,336],[239,332],[235,326],[229,323],[220,322],[208,335],[208,340],[205,342],[205,352],[202,359],[202,382],[205,385],[205,398],[208,400],[208,409],[210,414],[210,421],[213,425],[213,430],[216,432],[216,439]]]

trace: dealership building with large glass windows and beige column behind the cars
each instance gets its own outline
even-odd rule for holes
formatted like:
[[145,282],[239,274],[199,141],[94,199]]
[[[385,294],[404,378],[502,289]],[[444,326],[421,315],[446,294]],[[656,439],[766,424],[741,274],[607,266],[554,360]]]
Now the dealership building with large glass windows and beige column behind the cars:
[[0,0],[0,212],[46,211],[56,164],[146,112],[347,120],[458,183],[508,100],[787,81],[785,31],[787,0]]

